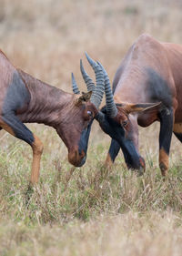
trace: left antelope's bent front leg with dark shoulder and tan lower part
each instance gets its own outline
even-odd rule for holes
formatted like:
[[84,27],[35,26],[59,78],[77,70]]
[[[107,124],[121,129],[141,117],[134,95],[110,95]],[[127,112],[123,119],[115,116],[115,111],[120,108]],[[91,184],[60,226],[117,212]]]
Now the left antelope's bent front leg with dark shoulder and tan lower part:
[[7,88],[5,101],[2,108],[2,123],[0,126],[6,131],[20,138],[31,145],[33,149],[33,163],[31,171],[31,182],[34,184],[38,181],[40,170],[40,159],[43,151],[43,144],[39,138],[25,127],[19,118],[15,116],[21,111],[25,111],[30,101],[30,94],[25,87],[25,83],[15,71],[11,85]]

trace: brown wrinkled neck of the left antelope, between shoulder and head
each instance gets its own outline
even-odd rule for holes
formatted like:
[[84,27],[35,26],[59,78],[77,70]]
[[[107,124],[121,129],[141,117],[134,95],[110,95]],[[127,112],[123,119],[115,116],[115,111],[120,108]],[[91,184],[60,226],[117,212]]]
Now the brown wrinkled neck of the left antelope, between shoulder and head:
[[64,109],[73,102],[73,95],[49,86],[22,70],[18,72],[30,94],[27,108],[17,112],[18,117],[25,123],[43,123],[55,127]]

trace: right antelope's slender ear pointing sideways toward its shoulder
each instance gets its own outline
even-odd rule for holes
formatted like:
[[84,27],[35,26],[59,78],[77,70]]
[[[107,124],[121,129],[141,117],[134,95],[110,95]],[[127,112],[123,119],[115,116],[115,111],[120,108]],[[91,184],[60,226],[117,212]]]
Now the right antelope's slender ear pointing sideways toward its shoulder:
[[142,112],[142,111],[155,111],[161,107],[161,102],[157,103],[140,103],[140,104],[126,104],[122,106],[127,112],[127,114]]

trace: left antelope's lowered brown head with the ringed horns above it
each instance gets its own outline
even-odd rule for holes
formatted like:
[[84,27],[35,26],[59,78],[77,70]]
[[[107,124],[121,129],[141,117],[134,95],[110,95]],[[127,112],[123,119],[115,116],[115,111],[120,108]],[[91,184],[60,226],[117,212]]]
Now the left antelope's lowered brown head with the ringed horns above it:
[[[67,106],[62,125],[56,128],[58,135],[63,139],[68,148],[68,160],[76,167],[81,167],[86,162],[86,151],[90,129],[96,117],[105,91],[104,72],[102,67],[92,60],[87,54],[86,58],[96,74],[96,87],[92,79],[86,74],[82,60],[80,69],[86,82],[87,93],[80,93],[76,79],[72,73],[72,104]],[[70,107],[71,106],[71,107]]]

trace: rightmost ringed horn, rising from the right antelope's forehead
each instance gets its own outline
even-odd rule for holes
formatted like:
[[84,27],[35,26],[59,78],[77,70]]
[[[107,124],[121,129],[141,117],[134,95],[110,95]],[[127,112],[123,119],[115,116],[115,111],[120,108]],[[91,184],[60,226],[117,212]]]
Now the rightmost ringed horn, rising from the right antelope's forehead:
[[117,108],[116,108],[116,104],[115,104],[115,101],[114,101],[114,98],[113,98],[113,93],[112,93],[112,90],[111,90],[109,77],[106,73],[105,68],[102,66],[102,64],[99,63],[99,62],[97,62],[97,63],[102,68],[102,70],[104,72],[104,77],[105,77],[106,114],[110,118],[115,118],[116,114],[117,114]]

